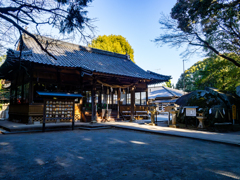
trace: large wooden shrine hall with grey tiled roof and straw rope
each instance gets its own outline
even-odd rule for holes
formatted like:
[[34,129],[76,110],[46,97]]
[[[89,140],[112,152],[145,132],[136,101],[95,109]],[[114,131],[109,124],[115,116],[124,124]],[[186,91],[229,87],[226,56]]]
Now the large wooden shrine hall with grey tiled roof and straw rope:
[[43,114],[46,122],[132,120],[148,109],[148,85],[171,78],[144,71],[128,55],[35,37],[54,57],[24,34],[0,67],[0,78],[11,81],[11,121],[42,123]]

